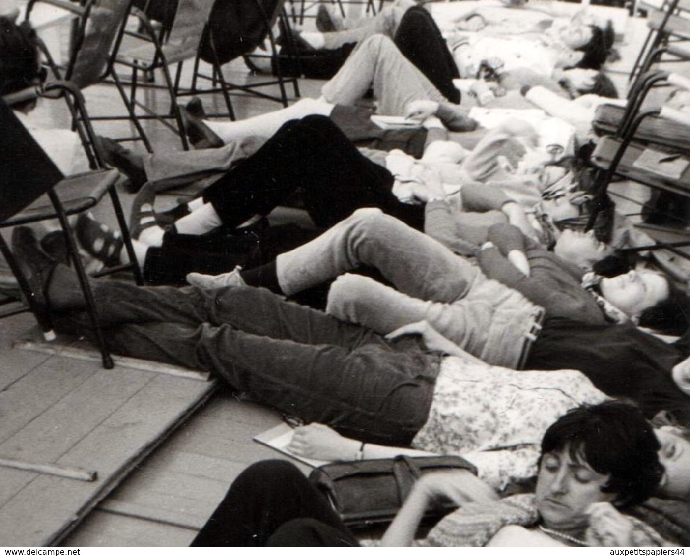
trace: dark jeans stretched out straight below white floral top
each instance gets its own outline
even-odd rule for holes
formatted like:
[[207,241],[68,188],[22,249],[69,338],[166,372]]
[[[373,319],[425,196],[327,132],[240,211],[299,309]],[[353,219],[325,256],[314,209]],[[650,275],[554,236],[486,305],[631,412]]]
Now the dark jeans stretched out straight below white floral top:
[[114,352],[210,371],[362,441],[407,445],[426,421],[439,357],[416,339],[392,344],[259,288],[99,281],[95,296]]

